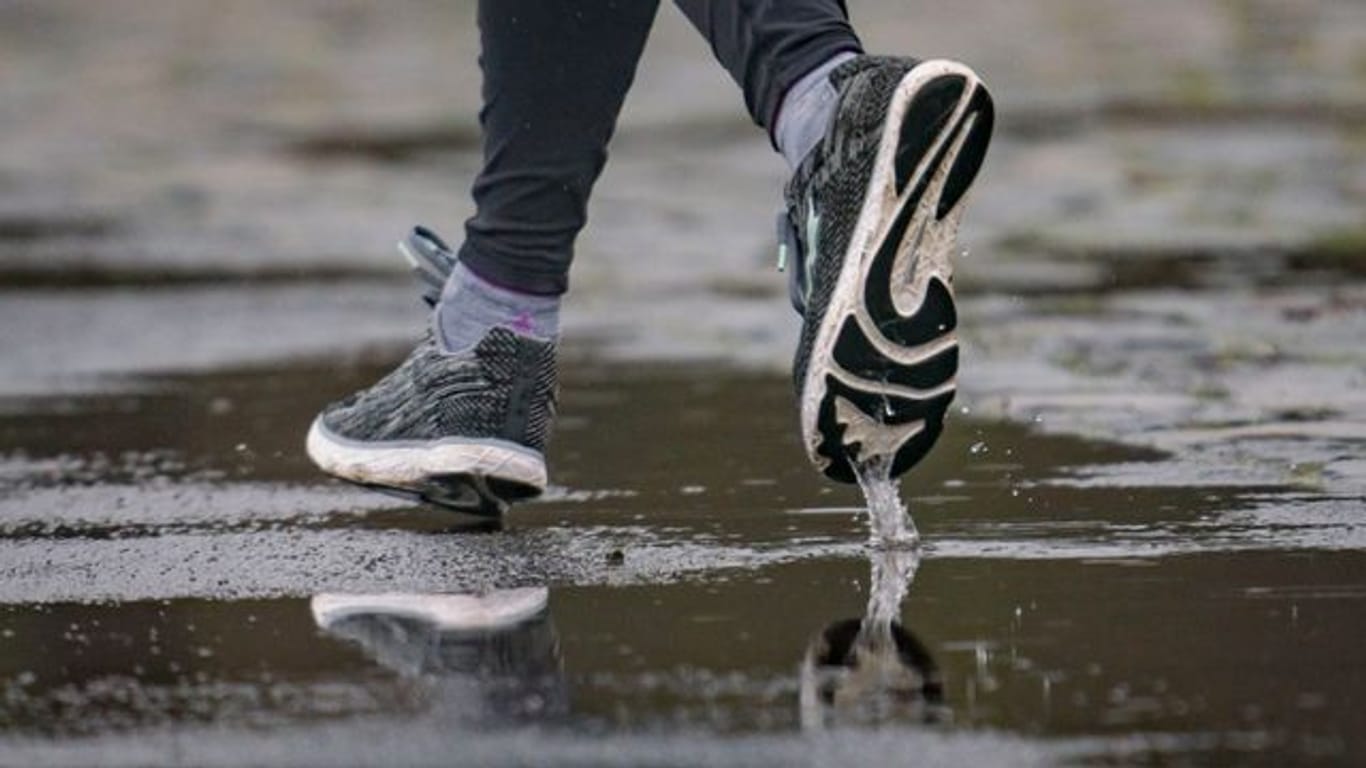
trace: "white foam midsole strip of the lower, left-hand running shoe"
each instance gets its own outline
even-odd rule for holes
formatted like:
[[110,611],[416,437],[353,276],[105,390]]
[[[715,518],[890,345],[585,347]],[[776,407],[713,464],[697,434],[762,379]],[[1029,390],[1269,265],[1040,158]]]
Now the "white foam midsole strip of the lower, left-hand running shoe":
[[370,485],[418,488],[433,477],[475,474],[545,491],[545,459],[534,451],[493,440],[361,444],[335,436],[313,420],[309,458],[322,471]]

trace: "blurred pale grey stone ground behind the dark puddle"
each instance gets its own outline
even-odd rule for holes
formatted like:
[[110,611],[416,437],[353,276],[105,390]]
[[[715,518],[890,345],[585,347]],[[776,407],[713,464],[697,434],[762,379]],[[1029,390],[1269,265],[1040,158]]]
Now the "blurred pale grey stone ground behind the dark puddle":
[[[973,61],[1001,104],[960,261],[967,409],[1173,451],[1173,482],[1366,489],[1359,3],[852,12],[869,48]],[[0,392],[407,343],[392,242],[469,213],[470,3],[0,16]],[[582,238],[572,343],[783,368],[781,175],[661,8]]]

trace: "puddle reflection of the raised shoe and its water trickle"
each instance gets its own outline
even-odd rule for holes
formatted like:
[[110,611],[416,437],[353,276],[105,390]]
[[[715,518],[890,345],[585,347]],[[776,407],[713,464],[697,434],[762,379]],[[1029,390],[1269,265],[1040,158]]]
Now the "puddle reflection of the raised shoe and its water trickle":
[[919,558],[919,549],[874,551],[863,618],[811,638],[800,670],[802,728],[948,719],[934,659],[897,619]]

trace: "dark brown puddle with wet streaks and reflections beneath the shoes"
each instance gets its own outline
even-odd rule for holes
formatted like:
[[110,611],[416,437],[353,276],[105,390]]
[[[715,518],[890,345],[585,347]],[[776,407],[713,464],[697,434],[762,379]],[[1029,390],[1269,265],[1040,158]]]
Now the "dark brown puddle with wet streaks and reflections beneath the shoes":
[[[307,466],[313,409],[380,370],[10,402],[0,436],[23,454],[0,461],[5,760],[448,764],[460,743],[475,764],[897,749],[1024,765],[1366,749],[1352,705],[1366,670],[1344,663],[1366,629],[1356,500],[1147,484],[1132,467],[1160,452],[956,414],[903,485],[923,549],[869,549],[859,492],[805,465],[784,379],[576,364],[559,485],[490,526]],[[638,424],[668,437],[624,432]],[[544,607],[515,620],[469,607],[510,589]],[[370,600],[369,619],[320,619],[320,594]]]

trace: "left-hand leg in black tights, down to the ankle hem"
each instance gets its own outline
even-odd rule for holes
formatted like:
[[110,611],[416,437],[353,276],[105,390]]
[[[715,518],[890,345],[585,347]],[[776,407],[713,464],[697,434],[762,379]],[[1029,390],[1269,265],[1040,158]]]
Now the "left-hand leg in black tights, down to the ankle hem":
[[460,262],[504,288],[557,295],[654,0],[481,0],[484,168]]

